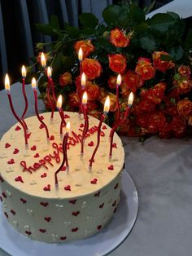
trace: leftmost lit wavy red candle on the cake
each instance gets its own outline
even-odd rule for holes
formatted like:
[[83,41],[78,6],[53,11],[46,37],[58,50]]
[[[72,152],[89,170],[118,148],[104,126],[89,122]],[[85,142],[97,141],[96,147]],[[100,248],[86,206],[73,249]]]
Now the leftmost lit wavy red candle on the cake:
[[9,77],[8,74],[6,74],[5,77],[5,89],[7,90],[7,96],[9,99],[9,104],[11,107],[11,111],[14,115],[14,117],[16,118],[17,121],[20,122],[20,125],[22,126],[23,130],[24,130],[24,143],[25,143],[25,148],[28,148],[28,138],[27,138],[27,130],[26,130],[26,126],[24,126],[24,122],[20,119],[20,117],[17,116],[17,114],[15,113],[15,109],[13,107],[13,103],[12,103],[12,99],[11,99],[11,93],[10,93],[10,81],[9,81]]

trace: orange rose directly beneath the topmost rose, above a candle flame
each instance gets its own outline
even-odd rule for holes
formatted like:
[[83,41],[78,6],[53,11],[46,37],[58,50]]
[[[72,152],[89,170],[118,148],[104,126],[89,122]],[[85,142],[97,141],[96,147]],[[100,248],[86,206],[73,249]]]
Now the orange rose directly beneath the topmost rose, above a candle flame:
[[124,55],[120,54],[111,54],[108,55],[109,58],[109,67],[112,71],[116,73],[124,73],[127,68],[127,60]]

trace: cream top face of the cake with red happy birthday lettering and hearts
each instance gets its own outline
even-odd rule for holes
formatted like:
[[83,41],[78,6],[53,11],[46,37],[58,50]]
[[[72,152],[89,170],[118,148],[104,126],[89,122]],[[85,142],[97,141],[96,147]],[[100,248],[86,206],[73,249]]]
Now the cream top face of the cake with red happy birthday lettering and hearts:
[[12,126],[0,142],[0,174],[2,179],[12,187],[26,194],[43,198],[68,199],[85,196],[99,191],[120,175],[124,165],[124,148],[120,137],[114,135],[113,157],[109,160],[109,133],[111,128],[103,123],[101,141],[94,157],[93,168],[89,171],[91,158],[97,143],[98,120],[89,117],[89,130],[85,139],[84,156],[81,157],[81,134],[84,118],[77,113],[65,113],[70,121],[71,130],[68,137],[68,164],[66,170],[59,172],[59,188],[55,188],[55,171],[63,160],[63,139],[59,134],[60,117],[55,113],[50,122],[50,113],[41,114],[50,131],[50,142],[47,143],[46,131],[36,116],[25,119],[28,124],[29,148],[24,147],[24,132],[17,123]]

